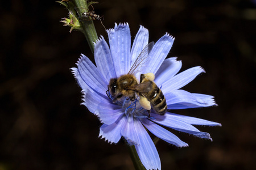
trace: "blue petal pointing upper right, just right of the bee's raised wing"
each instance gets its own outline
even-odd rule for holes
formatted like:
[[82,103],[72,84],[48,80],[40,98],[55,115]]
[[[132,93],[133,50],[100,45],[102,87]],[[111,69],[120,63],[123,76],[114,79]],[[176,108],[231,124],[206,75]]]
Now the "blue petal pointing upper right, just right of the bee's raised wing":
[[170,52],[174,37],[166,34],[161,37],[154,45],[148,56],[147,66],[143,67],[142,73],[156,73],[162,65],[167,54]]

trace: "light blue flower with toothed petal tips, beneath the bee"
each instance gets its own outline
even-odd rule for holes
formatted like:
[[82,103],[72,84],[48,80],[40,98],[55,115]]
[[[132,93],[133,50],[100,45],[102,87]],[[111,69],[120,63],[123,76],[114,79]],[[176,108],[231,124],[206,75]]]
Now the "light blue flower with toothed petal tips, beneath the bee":
[[[135,146],[146,169],[161,169],[158,151],[147,130],[177,147],[185,147],[188,144],[162,126],[212,140],[208,133],[192,125],[221,126],[221,124],[171,112],[160,116],[153,111],[152,118],[148,119],[146,110],[139,105],[138,100],[130,101],[124,98],[113,103],[109,99],[106,95],[109,80],[129,72],[132,63],[148,44],[148,30],[142,26],[139,28],[132,47],[128,24],[115,24],[114,29],[109,29],[107,32],[109,45],[104,37],[94,44],[96,66],[88,57],[81,54],[77,68],[72,68],[72,73],[84,94],[82,104],[96,114],[103,123],[99,137],[105,138],[110,143],[117,143],[121,137],[125,138],[130,145]],[[181,68],[181,61],[177,61],[175,57],[166,59],[173,42],[174,37],[166,33],[155,43],[148,54],[146,65],[136,74],[137,79],[141,73],[154,73],[154,82],[166,97],[169,111],[216,105],[213,96],[180,90],[205,71],[197,66],[177,74]]]

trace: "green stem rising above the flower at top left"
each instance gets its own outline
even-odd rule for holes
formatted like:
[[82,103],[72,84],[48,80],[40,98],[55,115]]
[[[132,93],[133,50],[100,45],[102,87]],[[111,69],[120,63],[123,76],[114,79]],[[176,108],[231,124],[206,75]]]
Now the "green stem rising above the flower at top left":
[[[79,15],[82,16],[82,13],[88,12],[88,5],[86,0],[73,0],[75,6],[77,7],[77,11],[79,12]],[[93,42],[96,42],[98,39],[96,29],[93,24],[93,20],[91,19],[81,19],[83,33],[86,37],[86,40],[90,46],[90,50],[92,50],[92,53],[94,53],[94,44]]]

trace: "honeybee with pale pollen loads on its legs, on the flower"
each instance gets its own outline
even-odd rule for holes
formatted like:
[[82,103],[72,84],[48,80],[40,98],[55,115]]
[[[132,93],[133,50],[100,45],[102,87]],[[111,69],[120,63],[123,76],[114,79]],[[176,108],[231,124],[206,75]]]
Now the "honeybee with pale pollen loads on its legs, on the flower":
[[153,46],[154,42],[150,42],[145,46],[133,66],[131,66],[129,73],[121,75],[119,78],[110,79],[108,90],[106,91],[106,94],[109,99],[113,100],[113,103],[120,100],[123,96],[134,101],[137,94],[140,98],[139,103],[141,107],[148,112],[148,118],[150,118],[151,108],[160,115],[163,115],[167,111],[166,99],[163,92],[154,82],[155,75],[153,73],[141,74],[140,82],[138,82],[135,76]]

